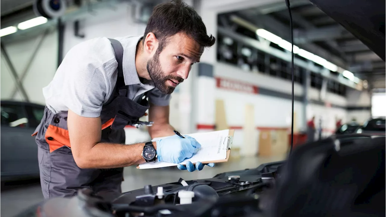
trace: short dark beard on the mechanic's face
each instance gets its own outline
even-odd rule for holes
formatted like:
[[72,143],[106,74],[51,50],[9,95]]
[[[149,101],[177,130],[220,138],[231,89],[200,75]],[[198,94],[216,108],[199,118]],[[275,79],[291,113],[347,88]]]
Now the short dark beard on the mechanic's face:
[[158,88],[161,93],[171,94],[173,93],[175,87],[169,86],[166,84],[166,81],[169,79],[176,80],[178,82],[183,82],[184,79],[177,76],[165,75],[161,69],[161,64],[159,64],[159,53],[156,52],[152,59],[149,59],[146,64],[147,71],[149,76],[154,83],[154,86]]

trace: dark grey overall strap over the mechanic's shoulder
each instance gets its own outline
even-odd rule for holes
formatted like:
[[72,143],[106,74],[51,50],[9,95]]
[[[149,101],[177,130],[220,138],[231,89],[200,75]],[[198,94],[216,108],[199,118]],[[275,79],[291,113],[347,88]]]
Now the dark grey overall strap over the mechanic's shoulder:
[[107,100],[104,105],[109,104],[110,102],[113,101],[115,98],[115,92],[119,92],[120,95],[126,95],[127,92],[127,87],[125,86],[125,80],[123,76],[123,46],[122,44],[116,40],[116,39],[108,39],[110,40],[111,46],[113,47],[114,54],[115,54],[115,59],[117,60],[118,63],[118,76],[117,76],[117,82],[115,83],[115,87],[113,90],[113,93],[111,97]]

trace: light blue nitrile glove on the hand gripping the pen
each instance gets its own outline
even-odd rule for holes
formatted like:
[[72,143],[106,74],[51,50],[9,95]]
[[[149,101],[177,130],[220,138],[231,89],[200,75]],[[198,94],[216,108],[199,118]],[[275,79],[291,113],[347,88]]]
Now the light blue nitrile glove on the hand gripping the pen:
[[168,163],[181,163],[186,158],[191,158],[201,147],[201,144],[193,137],[177,135],[157,140],[158,161]]

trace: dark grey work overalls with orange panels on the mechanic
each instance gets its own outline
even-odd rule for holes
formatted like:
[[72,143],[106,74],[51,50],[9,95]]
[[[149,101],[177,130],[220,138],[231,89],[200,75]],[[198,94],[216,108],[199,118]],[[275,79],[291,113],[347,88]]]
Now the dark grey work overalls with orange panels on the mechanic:
[[[146,93],[137,102],[130,100],[126,93],[122,59],[123,47],[119,41],[110,39],[118,62],[118,77],[112,96],[103,104],[101,112],[101,142],[124,143],[126,125],[134,125],[149,108]],[[67,128],[68,112],[54,114],[47,107],[34,134],[38,146],[38,160],[42,192],[45,199],[70,197],[81,188],[90,188],[104,197],[121,193],[123,168],[81,169],[71,153]]]

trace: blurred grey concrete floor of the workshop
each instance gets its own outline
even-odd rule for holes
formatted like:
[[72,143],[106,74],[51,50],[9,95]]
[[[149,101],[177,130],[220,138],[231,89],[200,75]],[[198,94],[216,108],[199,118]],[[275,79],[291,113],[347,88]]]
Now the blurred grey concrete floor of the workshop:
[[[139,170],[131,166],[124,170],[122,191],[127,192],[143,188],[144,185],[161,185],[175,182],[179,178],[184,180],[211,178],[218,173],[256,168],[260,164],[280,161],[284,158],[285,156],[231,158],[228,162],[218,163],[213,168],[206,166],[203,170],[192,173],[177,168]],[[0,192],[1,217],[12,217],[43,200],[39,180],[6,183],[6,185],[5,189]]]

